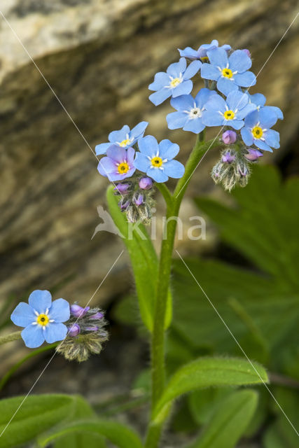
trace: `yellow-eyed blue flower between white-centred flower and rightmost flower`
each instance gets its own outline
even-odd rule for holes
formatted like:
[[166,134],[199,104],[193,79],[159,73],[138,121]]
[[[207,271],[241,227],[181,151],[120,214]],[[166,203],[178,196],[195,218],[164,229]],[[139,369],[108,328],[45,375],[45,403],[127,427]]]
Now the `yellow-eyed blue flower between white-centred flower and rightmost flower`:
[[225,125],[238,130],[244,126],[244,118],[255,109],[255,106],[249,104],[246,93],[234,91],[228,94],[226,102],[220,95],[213,95],[205,104],[205,109],[206,112],[202,117],[204,125]]

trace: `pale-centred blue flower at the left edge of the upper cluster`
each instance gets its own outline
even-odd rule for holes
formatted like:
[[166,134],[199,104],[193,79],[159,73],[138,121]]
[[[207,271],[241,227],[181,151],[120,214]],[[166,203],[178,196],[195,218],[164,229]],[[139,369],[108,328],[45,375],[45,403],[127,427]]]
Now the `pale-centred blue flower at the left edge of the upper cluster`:
[[155,106],[161,104],[169,97],[179,97],[183,94],[189,94],[193,87],[193,82],[190,80],[197,71],[200,70],[202,63],[200,61],[193,61],[187,67],[187,62],[184,57],[181,57],[179,62],[170,64],[166,73],[159,71],[155,73],[153,83],[148,85],[149,90],[156,90],[149,96],[149,99]]

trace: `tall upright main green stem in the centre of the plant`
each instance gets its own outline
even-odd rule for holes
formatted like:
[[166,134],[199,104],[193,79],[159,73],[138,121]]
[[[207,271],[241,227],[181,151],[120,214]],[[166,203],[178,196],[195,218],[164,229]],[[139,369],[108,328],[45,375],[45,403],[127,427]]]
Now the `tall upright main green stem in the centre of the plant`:
[[[200,134],[186,163],[185,173],[176,185],[172,202],[167,202],[167,221],[165,223],[166,232],[164,233],[167,237],[162,240],[161,246],[159,274],[155,297],[154,324],[151,340],[152,412],[157,405],[165,386],[164,322],[167,307],[167,291],[169,288],[170,272],[172,267],[172,251],[174,248],[174,237],[176,233],[176,217],[179,216],[181,200],[183,199],[188,183],[190,182],[197,165],[200,163],[200,160],[210,148],[219,146],[218,141],[211,140],[204,143],[202,139],[203,134]],[[148,435],[146,437],[145,445],[146,448],[154,448],[158,445],[160,430],[160,425],[150,426],[148,428]]]

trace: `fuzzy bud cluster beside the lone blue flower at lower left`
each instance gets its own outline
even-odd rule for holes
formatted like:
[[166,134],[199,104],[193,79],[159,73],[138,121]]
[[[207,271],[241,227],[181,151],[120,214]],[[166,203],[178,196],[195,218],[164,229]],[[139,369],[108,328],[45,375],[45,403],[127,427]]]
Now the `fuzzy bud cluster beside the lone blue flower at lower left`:
[[82,362],[90,353],[102,351],[102,344],[108,339],[105,330],[104,312],[99,308],[81,307],[74,303],[70,307],[71,317],[67,321],[67,337],[57,346],[57,352],[67,360]]

